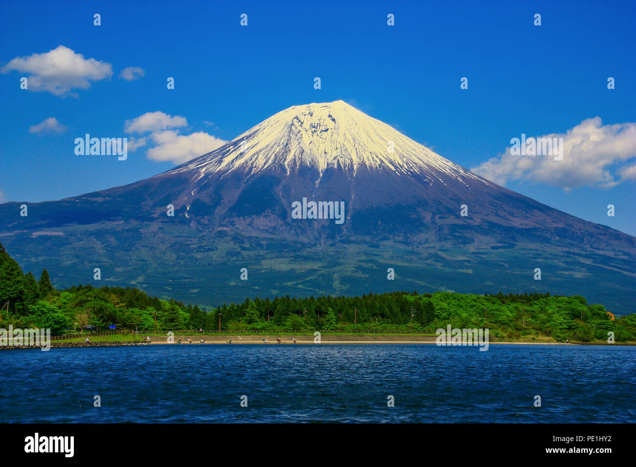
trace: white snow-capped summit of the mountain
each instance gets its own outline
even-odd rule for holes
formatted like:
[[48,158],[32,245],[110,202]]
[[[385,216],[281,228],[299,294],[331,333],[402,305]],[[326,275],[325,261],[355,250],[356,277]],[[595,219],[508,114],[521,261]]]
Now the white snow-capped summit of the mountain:
[[174,171],[205,175],[240,168],[249,176],[279,167],[289,175],[301,166],[315,168],[318,178],[328,168],[340,168],[350,177],[366,168],[420,175],[430,182],[480,179],[342,100],[289,107]]

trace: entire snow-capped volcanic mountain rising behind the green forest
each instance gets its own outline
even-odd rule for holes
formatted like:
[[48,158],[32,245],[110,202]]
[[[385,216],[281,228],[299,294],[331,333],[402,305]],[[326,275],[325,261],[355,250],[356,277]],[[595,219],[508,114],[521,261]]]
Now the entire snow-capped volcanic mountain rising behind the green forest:
[[[292,215],[294,202],[312,201],[319,213],[343,202],[343,222]],[[636,311],[636,238],[498,186],[342,101],[289,107],[134,184],[24,203],[27,217],[21,204],[0,205],[0,240],[56,287],[131,286],[214,306],[549,290]]]

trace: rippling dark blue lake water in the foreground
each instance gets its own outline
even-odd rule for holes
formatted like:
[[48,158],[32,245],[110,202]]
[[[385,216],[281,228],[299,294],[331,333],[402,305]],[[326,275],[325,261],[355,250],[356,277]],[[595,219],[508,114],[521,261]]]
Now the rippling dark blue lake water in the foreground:
[[502,344],[2,351],[0,422],[635,422],[635,357],[635,347]]

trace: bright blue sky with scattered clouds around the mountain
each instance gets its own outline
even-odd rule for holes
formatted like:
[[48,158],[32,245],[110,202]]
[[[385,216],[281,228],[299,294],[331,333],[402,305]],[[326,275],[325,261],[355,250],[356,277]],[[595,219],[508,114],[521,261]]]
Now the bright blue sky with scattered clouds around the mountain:
[[[135,182],[176,165],[148,157],[170,149],[165,139],[196,151],[291,105],[342,99],[481,175],[495,158],[495,181],[509,189],[636,235],[635,13],[632,1],[3,2],[1,201]],[[51,78],[55,57],[32,56],[60,45],[76,62]],[[143,76],[120,78],[128,67]],[[165,114],[163,140],[125,132],[147,112]],[[146,145],[127,161],[76,156],[85,133]],[[522,133],[556,133],[574,149],[567,163],[522,170],[501,157]]]

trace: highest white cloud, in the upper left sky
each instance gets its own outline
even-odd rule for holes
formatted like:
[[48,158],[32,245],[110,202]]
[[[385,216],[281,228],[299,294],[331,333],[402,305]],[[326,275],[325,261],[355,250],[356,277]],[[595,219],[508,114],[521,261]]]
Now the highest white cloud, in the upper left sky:
[[86,60],[80,53],[63,45],[46,53],[13,58],[1,72],[18,71],[27,74],[28,90],[48,91],[65,97],[73,89],[88,89],[90,81],[113,76],[111,64],[95,58]]

